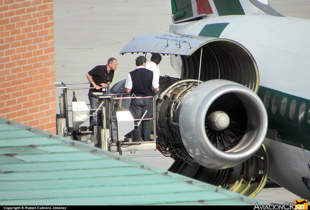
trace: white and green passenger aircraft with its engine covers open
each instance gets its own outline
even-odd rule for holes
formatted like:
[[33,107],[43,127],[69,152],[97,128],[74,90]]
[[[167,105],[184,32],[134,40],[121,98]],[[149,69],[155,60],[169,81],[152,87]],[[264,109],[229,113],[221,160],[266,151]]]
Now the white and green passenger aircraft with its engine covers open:
[[161,78],[157,99],[169,170],[250,197],[269,177],[310,199],[310,20],[268,0],[166,6],[170,32],[137,36],[121,54],[169,55],[180,75]]

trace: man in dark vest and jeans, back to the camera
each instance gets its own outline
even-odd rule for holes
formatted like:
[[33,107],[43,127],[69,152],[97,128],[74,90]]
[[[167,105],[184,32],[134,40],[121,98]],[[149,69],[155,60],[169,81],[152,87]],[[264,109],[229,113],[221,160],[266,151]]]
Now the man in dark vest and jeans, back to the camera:
[[[136,58],[136,66],[134,71],[131,71],[127,75],[124,93],[131,93],[135,96],[155,96],[159,91],[159,84],[154,76],[153,71],[145,68],[146,58],[139,56]],[[153,91],[152,91],[153,88]],[[135,119],[141,119],[148,105],[152,103],[152,98],[132,98],[131,100],[131,114]],[[151,110],[149,109],[144,118],[150,118]],[[138,128],[133,130],[134,141],[140,141],[141,139],[141,126],[142,126],[142,138],[144,141],[150,140],[151,127],[150,121],[144,120]]]

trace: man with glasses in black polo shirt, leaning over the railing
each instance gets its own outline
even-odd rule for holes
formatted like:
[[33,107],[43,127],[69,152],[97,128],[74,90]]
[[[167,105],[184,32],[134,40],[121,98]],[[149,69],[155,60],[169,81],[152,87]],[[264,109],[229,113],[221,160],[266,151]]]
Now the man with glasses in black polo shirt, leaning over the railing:
[[[88,92],[88,99],[91,104],[91,109],[97,109],[103,100],[99,100],[98,98],[93,97],[92,92],[103,92],[103,89],[111,84],[114,76],[114,71],[117,68],[117,60],[115,58],[109,58],[107,65],[95,66],[91,71],[86,74],[88,81],[91,83]],[[101,114],[100,110],[98,111],[99,116]],[[90,131],[94,130],[94,126],[101,126],[101,117],[98,118],[97,115],[95,117],[89,117]]]

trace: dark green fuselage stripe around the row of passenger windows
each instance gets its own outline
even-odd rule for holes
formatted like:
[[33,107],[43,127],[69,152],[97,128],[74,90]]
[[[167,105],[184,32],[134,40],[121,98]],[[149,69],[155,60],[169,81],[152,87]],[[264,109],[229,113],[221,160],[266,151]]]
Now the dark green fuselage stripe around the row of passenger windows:
[[[259,86],[257,95],[264,101],[266,92],[269,92],[268,103],[268,131],[266,138],[289,144],[295,147],[303,148],[310,151],[310,125],[308,124],[308,112],[310,107],[310,100],[304,99],[298,96],[290,95],[277,91],[271,88]],[[277,109],[275,114],[272,113],[272,101],[273,97],[278,96]],[[286,111],[282,117],[280,114],[282,99],[287,98]],[[289,117],[290,104],[293,100],[296,100],[296,109],[293,119]],[[306,104],[304,118],[302,122],[299,122],[299,107],[302,103]],[[275,110],[275,109],[274,109]]]

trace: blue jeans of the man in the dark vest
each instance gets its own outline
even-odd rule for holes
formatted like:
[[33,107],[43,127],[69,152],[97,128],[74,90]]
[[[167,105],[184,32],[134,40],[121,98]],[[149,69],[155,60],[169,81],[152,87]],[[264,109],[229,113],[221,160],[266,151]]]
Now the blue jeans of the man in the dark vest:
[[[141,119],[145,110],[148,108],[148,105],[152,103],[152,98],[136,98],[131,100],[130,112],[135,119]],[[152,107],[148,109],[148,112],[145,114],[144,118],[150,118]],[[143,120],[140,126],[132,131],[134,135],[134,141],[140,141],[141,139],[141,129],[142,129],[142,138],[144,141],[150,141],[151,127],[150,120]]]

